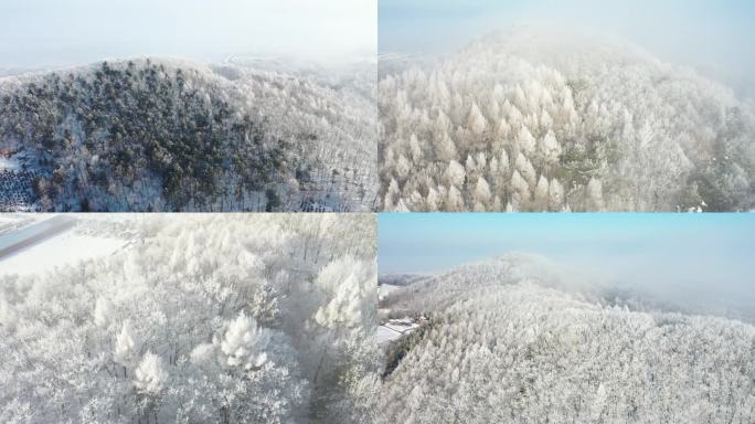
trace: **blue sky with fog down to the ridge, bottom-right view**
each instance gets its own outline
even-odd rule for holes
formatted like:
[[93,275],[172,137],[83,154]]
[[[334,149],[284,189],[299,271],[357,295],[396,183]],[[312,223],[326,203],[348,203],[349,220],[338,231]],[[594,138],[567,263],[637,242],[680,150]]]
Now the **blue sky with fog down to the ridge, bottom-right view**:
[[542,254],[637,287],[755,312],[755,214],[381,213],[381,273],[438,272]]

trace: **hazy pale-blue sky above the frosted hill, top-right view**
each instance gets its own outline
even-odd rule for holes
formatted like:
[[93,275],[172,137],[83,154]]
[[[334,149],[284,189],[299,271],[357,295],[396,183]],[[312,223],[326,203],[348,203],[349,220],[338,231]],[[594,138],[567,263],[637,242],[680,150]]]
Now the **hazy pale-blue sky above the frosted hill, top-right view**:
[[755,86],[752,0],[381,0],[381,51],[438,53],[517,23],[627,39],[735,88]]

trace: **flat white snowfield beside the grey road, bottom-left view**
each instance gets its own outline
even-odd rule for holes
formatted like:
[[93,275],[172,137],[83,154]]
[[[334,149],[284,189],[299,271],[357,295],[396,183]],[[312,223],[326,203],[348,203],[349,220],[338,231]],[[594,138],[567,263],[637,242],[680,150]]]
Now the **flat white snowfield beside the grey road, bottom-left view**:
[[[2,220],[0,223],[3,223],[11,221],[13,215],[0,216],[0,219]],[[20,230],[15,229],[6,236],[12,236]],[[127,244],[126,239],[81,234],[75,231],[75,226],[72,226],[20,252],[0,257],[0,276],[42,274],[60,266],[75,265],[82,261],[110,255]]]

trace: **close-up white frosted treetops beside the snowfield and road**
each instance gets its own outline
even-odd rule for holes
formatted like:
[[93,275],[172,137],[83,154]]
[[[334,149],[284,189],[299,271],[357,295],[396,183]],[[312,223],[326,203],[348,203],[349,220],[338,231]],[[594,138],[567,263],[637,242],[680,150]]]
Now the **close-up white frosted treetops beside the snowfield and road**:
[[123,243],[2,269],[0,422],[365,422],[374,216],[77,215],[70,232]]

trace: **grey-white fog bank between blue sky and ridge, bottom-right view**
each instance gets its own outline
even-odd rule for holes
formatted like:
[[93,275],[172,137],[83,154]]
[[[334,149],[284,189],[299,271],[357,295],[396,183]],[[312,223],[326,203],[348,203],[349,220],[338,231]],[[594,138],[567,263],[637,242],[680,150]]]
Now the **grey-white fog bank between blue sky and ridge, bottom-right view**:
[[[528,275],[556,277],[539,283],[550,288],[585,296],[612,305],[626,305],[636,310],[656,310],[693,315],[713,315],[755,324],[755,292],[752,275],[755,266],[722,265],[703,256],[668,258],[587,252],[503,251],[493,257],[479,257],[461,267],[475,267],[504,258],[527,269]],[[430,275],[455,273],[458,267],[443,268]],[[387,274],[384,284],[408,274]],[[427,274],[425,274],[427,275]],[[419,278],[417,280],[424,280]],[[412,284],[410,282],[410,284]],[[396,285],[396,284],[394,284]],[[397,284],[406,285],[406,284]]]

